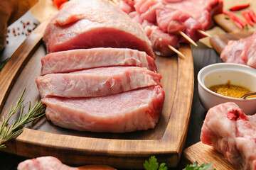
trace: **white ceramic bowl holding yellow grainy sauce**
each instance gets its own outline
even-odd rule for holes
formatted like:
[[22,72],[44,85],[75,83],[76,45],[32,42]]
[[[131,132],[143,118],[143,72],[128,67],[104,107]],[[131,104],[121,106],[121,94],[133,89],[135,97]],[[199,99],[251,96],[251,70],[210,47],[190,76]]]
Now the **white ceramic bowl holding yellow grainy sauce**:
[[226,84],[228,80],[233,85],[256,91],[256,69],[233,63],[210,64],[198,72],[198,94],[203,106],[208,110],[220,103],[231,101],[242,108],[246,115],[256,113],[256,98],[231,98],[208,89],[209,86]]

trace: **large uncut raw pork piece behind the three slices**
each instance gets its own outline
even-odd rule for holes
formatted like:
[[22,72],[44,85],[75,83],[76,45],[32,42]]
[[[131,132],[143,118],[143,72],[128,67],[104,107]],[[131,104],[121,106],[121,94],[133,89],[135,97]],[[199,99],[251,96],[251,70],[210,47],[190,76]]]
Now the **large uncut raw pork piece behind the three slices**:
[[43,35],[48,52],[92,47],[132,48],[154,58],[141,26],[107,0],[69,1]]

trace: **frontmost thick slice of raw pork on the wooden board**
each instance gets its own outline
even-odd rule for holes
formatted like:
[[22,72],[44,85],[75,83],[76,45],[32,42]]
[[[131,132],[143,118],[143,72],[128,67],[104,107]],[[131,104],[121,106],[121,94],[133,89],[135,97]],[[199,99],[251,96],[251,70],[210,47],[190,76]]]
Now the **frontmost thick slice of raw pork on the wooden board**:
[[154,128],[164,90],[150,86],[94,98],[43,98],[46,116],[63,128],[92,132],[132,132]]

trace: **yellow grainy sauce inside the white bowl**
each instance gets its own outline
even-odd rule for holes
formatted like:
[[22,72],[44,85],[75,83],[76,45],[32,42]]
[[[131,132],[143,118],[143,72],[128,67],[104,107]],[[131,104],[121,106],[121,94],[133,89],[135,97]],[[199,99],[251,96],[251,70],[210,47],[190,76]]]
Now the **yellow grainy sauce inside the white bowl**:
[[[229,80],[226,84],[218,84],[208,87],[211,91],[221,94],[223,96],[241,98],[243,95],[251,93],[250,89],[247,89],[243,86],[233,85]],[[250,96],[248,98],[255,98],[256,96]]]

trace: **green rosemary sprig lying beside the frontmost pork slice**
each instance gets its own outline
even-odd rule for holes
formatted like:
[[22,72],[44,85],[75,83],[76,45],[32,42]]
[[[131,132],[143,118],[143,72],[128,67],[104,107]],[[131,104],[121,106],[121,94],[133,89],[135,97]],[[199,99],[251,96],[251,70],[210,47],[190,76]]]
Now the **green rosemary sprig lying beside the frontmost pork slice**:
[[[46,106],[44,106],[41,101],[36,101],[32,107],[31,102],[29,102],[28,112],[23,115],[24,106],[22,103],[24,101],[23,97],[25,91],[26,88],[23,90],[21,98],[18,99],[14,108],[11,106],[9,114],[6,116],[6,118],[4,118],[4,116],[2,117],[2,123],[0,128],[0,149],[6,147],[6,145],[4,145],[5,142],[18,137],[18,135],[20,135],[23,132],[22,128],[27,123],[30,123],[33,120],[36,120],[37,118],[40,118],[41,116],[45,115]],[[14,120],[14,123],[11,126],[8,126],[7,123],[9,119],[12,115],[14,115],[14,113],[16,113],[20,106],[21,113],[19,115],[18,120]]]

